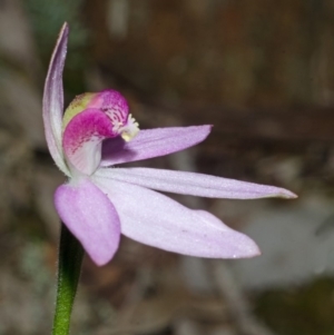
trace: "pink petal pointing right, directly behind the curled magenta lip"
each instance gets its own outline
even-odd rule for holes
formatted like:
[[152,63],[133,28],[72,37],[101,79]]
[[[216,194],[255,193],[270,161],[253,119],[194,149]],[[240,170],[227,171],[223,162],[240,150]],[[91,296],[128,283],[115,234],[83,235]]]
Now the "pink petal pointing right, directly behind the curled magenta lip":
[[195,146],[206,139],[212,126],[156,128],[140,130],[129,142],[108,139],[102,146],[101,166],[169,155]]

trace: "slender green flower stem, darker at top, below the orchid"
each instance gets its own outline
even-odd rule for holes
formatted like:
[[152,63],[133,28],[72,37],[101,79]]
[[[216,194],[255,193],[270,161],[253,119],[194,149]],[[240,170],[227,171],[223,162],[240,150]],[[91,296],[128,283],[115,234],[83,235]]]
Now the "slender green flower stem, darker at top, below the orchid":
[[58,287],[52,335],[68,335],[72,306],[81,272],[84,249],[77,238],[61,224]]

